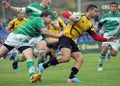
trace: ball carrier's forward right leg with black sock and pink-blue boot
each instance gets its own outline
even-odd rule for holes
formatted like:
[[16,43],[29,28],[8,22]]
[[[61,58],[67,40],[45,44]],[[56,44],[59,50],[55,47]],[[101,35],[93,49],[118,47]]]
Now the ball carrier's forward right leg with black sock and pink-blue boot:
[[73,47],[72,47],[71,57],[73,57],[73,59],[75,60],[75,63],[73,65],[73,67],[71,68],[71,73],[69,75],[69,78],[68,78],[67,82],[68,83],[81,82],[79,79],[77,79],[75,77],[75,75],[77,75],[79,69],[81,68],[81,66],[83,64],[83,56],[80,53],[76,44],[74,44]]

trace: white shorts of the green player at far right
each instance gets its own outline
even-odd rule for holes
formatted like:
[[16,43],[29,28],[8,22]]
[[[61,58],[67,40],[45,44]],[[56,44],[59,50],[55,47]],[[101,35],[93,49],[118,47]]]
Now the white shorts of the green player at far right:
[[[104,34],[104,37],[108,38],[107,34]],[[111,46],[113,50],[119,51],[119,39],[112,42],[102,42],[102,46]]]

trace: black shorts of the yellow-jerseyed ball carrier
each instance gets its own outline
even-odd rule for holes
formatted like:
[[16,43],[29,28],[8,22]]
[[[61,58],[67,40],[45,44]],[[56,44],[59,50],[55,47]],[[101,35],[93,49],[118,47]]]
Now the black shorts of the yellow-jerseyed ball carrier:
[[80,51],[79,48],[77,47],[77,44],[75,42],[68,38],[67,36],[62,36],[59,38],[59,46],[60,48],[70,48],[71,52],[78,52]]

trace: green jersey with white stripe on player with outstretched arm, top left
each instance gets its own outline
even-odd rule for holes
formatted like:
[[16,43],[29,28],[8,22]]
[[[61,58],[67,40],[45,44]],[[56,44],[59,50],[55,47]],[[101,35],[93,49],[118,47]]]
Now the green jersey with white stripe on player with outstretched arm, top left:
[[52,20],[56,20],[55,13],[50,8],[44,8],[38,3],[32,3],[29,6],[25,7],[26,13],[30,13],[30,19],[34,17],[39,17],[44,10],[48,10],[49,12],[51,12]]

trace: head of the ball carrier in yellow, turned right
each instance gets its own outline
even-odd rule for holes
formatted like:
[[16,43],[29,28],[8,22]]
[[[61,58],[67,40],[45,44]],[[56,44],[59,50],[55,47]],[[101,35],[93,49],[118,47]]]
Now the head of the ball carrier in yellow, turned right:
[[86,12],[91,18],[95,18],[98,15],[98,9],[96,5],[88,5]]

